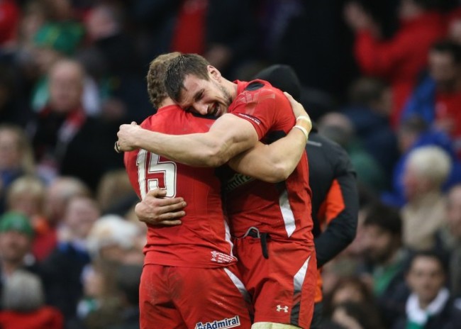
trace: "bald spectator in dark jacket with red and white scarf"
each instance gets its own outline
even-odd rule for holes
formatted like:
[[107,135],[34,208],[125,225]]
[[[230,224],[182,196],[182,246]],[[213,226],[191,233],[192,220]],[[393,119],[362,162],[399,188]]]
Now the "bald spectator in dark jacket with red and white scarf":
[[[95,189],[101,174],[121,166],[113,154],[113,134],[85,113],[81,96],[84,70],[73,60],[60,60],[50,70],[50,101],[30,125],[38,172],[76,176]],[[88,168],[91,168],[89,170]]]

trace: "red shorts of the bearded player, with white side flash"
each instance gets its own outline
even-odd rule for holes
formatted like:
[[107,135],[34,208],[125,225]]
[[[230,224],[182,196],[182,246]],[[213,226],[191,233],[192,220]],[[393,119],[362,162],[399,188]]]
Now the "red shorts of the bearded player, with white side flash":
[[317,260],[313,247],[267,240],[235,239],[235,254],[243,283],[252,295],[255,323],[272,322],[309,328],[316,291]]

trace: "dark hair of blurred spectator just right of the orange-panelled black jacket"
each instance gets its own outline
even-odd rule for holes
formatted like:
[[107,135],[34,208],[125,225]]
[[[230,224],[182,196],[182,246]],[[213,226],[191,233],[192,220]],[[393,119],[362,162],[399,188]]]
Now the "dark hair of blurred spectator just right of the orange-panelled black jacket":
[[402,230],[399,210],[383,203],[374,203],[368,208],[363,225],[376,225],[392,235],[401,235]]

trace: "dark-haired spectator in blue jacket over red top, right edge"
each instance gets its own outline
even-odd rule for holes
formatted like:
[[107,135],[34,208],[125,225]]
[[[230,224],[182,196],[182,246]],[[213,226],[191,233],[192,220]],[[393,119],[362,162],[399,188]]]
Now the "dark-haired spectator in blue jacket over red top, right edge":
[[402,120],[418,116],[452,138],[461,158],[461,45],[435,43],[429,52],[429,74],[418,84],[402,113]]

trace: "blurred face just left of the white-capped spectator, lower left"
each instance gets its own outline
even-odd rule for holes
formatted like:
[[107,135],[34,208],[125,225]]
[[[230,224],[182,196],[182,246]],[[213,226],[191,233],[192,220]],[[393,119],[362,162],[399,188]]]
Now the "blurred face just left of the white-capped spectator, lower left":
[[75,196],[67,204],[65,223],[74,237],[87,238],[94,222],[99,218],[96,203],[84,196]]

